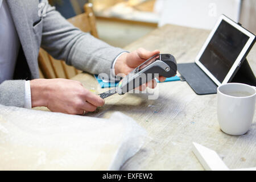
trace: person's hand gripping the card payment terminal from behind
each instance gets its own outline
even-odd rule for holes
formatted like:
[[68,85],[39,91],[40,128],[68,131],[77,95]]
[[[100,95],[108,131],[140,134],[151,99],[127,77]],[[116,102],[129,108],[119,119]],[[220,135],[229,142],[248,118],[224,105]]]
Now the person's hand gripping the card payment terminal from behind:
[[[139,48],[131,53],[123,53],[120,57],[118,57],[117,62],[115,63],[115,75],[120,73],[127,75],[134,68],[137,68],[138,65],[142,64],[144,61],[149,59],[150,57],[160,53],[159,50],[155,51],[147,51],[144,48]],[[166,78],[159,76],[159,81],[164,81]],[[146,86],[149,88],[155,88],[157,82],[155,79],[147,82],[147,84],[143,84],[139,87],[139,90],[145,90]]]

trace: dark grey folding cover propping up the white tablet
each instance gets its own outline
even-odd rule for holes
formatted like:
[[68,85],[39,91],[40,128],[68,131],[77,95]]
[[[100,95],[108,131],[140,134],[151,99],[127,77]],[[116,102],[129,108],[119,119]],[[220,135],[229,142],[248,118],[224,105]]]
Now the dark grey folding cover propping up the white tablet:
[[[196,94],[214,94],[217,93],[217,85],[204,73],[196,63],[177,64],[177,70],[185,81],[191,86]],[[229,82],[240,82],[256,86],[256,79],[250,65],[245,59],[240,67],[237,67],[233,78]]]

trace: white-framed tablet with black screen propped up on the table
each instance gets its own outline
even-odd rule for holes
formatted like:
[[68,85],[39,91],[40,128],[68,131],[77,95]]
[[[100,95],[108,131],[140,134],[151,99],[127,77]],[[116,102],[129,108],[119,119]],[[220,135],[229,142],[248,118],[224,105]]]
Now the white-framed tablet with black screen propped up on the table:
[[255,35],[221,15],[195,62],[218,86],[226,84],[254,42]]

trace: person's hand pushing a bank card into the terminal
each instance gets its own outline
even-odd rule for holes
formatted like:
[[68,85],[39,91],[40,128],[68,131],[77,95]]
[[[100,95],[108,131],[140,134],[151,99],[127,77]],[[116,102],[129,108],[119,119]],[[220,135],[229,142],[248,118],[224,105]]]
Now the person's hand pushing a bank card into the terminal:
[[67,79],[35,79],[30,81],[32,107],[67,114],[84,114],[104,105],[104,100],[86,90],[81,82]]

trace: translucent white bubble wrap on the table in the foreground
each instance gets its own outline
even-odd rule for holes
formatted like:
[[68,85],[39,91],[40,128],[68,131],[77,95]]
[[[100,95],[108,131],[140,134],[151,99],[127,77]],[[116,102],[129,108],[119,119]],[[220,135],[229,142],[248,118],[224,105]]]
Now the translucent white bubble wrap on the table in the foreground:
[[145,137],[119,112],[102,119],[0,105],[0,170],[118,170]]

